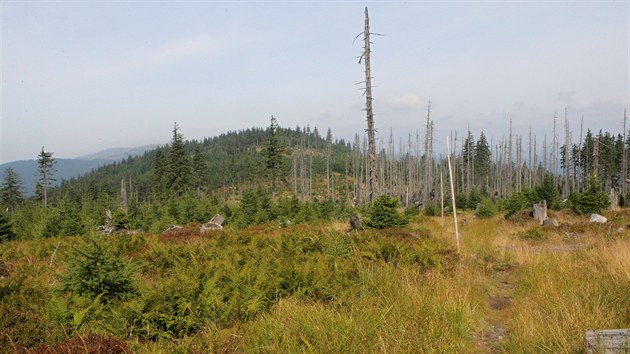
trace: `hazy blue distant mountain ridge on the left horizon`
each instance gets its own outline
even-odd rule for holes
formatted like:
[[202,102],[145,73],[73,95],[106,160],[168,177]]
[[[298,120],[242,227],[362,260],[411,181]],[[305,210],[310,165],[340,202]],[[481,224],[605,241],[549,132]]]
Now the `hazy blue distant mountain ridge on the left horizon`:
[[[58,186],[62,180],[80,177],[95,168],[119,162],[129,156],[142,155],[158,146],[158,144],[151,144],[133,148],[111,148],[74,159],[56,158],[53,156],[55,161],[57,161],[55,164],[57,172],[53,176],[57,181],[53,185]],[[4,163],[0,165],[0,178],[4,177],[4,171],[9,167],[13,168],[20,176],[23,192],[27,196],[33,195],[39,178],[37,175],[37,161],[19,160]]]

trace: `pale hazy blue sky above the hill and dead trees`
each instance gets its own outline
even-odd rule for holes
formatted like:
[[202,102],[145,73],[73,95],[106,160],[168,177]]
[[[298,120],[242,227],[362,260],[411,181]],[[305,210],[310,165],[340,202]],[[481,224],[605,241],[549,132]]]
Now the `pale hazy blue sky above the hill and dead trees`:
[[[0,163],[267,127],[364,135],[364,7],[377,137],[436,149],[510,120],[623,133],[628,1],[0,1]],[[524,138],[526,141],[526,138]],[[525,144],[525,143],[524,143]],[[540,146],[540,143],[539,145]]]

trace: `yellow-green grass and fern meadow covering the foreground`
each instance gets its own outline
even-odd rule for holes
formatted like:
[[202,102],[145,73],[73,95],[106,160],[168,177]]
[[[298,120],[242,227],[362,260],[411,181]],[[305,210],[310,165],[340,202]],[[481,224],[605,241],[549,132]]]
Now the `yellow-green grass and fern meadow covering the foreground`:
[[[360,233],[346,233],[345,224],[330,223],[282,229],[263,225],[205,235],[182,231],[114,237],[114,249],[139,265],[144,295],[100,309],[104,311],[100,315],[90,310],[92,317],[74,332],[59,329],[50,304],[90,304],[53,291],[54,273],[65,270],[71,245],[79,240],[5,243],[0,245],[0,259],[9,275],[0,278],[0,305],[24,324],[20,327],[19,321],[3,317],[0,351],[42,343],[52,347],[96,332],[123,340],[140,353],[583,352],[587,330],[630,327],[630,237],[627,230],[616,232],[628,217],[607,216],[614,226],[588,224],[584,217],[557,212],[554,217],[561,226],[542,229],[535,221],[516,223],[501,216],[479,219],[465,214],[467,223],[459,228],[459,256],[453,254],[452,219],[446,218],[442,225],[439,216],[416,216],[400,230]],[[60,240],[62,246],[50,269],[50,256]],[[572,245],[581,248],[558,247]],[[221,250],[228,253],[222,255]],[[264,257],[256,252],[264,252]],[[320,290],[309,292],[295,283],[294,292],[259,297],[265,304],[262,310],[256,307],[260,301],[245,302],[242,311],[253,314],[246,320],[215,322],[204,319],[195,307],[195,294],[215,296],[207,285],[210,281],[245,286],[246,291],[257,289],[247,285],[249,281],[256,286],[273,283],[247,261],[272,271],[286,265],[280,258],[266,260],[285,253],[292,262],[305,262],[304,269],[296,264],[295,270]],[[219,261],[218,266],[213,263]],[[229,278],[217,278],[231,271],[250,272],[251,279],[243,276],[239,283],[225,283]],[[201,273],[206,275],[197,275]],[[499,292],[498,279],[509,279],[511,287]],[[185,282],[199,290],[188,287],[180,292]],[[238,293],[232,290],[233,300]],[[489,303],[497,293],[509,297],[503,311]],[[159,314],[160,306],[168,304],[159,302],[166,295],[178,299],[187,311],[173,321],[197,321],[194,330],[170,338],[138,339],[133,334],[140,328],[114,318],[131,316],[142,306]],[[149,300],[154,301],[152,307],[147,307]],[[507,338],[491,346],[483,338],[497,323],[505,327]]]

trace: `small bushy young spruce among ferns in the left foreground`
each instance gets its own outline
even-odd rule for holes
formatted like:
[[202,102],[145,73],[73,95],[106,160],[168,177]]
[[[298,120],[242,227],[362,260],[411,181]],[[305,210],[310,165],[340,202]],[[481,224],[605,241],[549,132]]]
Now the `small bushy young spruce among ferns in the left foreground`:
[[128,298],[138,292],[130,264],[116,256],[100,239],[73,247],[66,274],[58,275],[63,291],[101,301]]

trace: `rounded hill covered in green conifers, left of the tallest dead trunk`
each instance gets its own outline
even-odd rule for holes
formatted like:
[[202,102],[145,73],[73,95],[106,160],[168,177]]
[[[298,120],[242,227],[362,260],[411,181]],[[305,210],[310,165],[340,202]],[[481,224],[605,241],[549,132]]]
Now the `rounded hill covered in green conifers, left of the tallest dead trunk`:
[[[277,135],[284,148],[278,174],[278,185],[282,189],[297,188],[295,181],[290,181],[291,176],[307,179],[325,176],[327,161],[330,161],[331,173],[345,171],[350,145],[343,139],[333,140],[330,131],[328,133],[327,136],[321,136],[317,128],[279,128]],[[182,187],[182,190],[199,190],[203,193],[219,190],[237,192],[249,187],[270,185],[266,128],[228,132],[202,141],[186,141],[175,131],[173,139],[176,138],[175,134],[182,139],[183,155],[187,161],[185,164],[188,164],[178,176],[178,180],[188,186],[178,186],[177,189]],[[130,197],[136,201],[150,201],[169,194],[173,186],[169,185],[167,179],[174,177],[168,175],[176,173],[169,171],[173,168],[170,166],[173,163],[171,160],[175,158],[173,155],[177,155],[172,153],[172,146],[173,141],[141,156],[129,157],[96,168],[81,177],[65,180],[59,188],[51,191],[51,195],[53,199],[69,196],[74,200],[85,197],[97,200],[104,195],[115,198],[120,194],[123,178]]]

